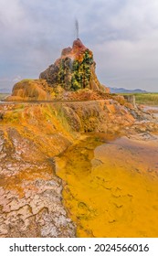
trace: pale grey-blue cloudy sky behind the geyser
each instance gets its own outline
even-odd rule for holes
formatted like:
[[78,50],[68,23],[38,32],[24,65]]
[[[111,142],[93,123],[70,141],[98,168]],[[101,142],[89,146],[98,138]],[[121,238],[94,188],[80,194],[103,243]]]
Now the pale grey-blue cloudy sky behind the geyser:
[[0,0],[0,91],[54,63],[76,18],[101,83],[158,91],[158,0]]

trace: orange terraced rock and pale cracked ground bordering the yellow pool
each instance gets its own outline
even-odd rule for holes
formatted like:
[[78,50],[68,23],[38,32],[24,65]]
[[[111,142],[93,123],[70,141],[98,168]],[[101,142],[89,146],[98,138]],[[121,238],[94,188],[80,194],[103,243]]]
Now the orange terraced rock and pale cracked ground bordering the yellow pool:
[[0,237],[75,237],[56,156],[81,133],[151,133],[151,113],[119,101],[0,105]]

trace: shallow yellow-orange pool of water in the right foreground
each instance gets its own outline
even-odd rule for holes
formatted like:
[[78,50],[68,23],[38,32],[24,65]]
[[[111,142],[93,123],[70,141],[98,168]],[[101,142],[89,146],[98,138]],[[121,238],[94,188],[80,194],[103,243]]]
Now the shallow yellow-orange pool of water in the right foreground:
[[96,135],[58,159],[78,237],[158,237],[158,140]]

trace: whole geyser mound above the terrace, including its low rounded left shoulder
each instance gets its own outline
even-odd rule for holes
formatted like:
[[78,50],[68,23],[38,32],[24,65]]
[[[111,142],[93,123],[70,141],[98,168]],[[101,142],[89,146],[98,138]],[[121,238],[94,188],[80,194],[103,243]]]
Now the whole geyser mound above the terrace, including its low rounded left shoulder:
[[73,92],[82,90],[95,91],[96,95],[107,94],[110,91],[100,84],[95,66],[92,51],[78,38],[73,42],[72,48],[64,48],[61,57],[40,73],[39,80],[17,82],[7,100],[68,100],[68,96],[73,98]]

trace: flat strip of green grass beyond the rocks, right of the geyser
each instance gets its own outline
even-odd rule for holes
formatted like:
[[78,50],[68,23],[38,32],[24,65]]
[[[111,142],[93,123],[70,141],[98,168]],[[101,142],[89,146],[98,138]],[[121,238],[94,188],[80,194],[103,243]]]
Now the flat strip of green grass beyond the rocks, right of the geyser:
[[118,93],[120,95],[134,95],[137,104],[158,106],[158,92],[148,93]]

